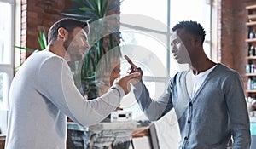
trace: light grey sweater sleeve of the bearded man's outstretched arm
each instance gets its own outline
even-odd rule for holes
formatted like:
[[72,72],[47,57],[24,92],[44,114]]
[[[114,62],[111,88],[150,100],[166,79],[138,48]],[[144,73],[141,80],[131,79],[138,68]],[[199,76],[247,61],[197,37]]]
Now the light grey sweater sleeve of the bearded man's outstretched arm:
[[101,122],[119,106],[124,90],[115,85],[108,93],[94,100],[84,100],[73,83],[67,62],[59,57],[45,60],[38,72],[38,92],[58,109],[82,125]]

